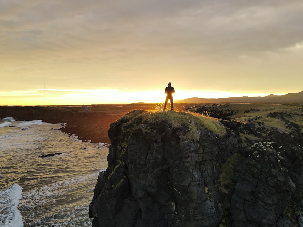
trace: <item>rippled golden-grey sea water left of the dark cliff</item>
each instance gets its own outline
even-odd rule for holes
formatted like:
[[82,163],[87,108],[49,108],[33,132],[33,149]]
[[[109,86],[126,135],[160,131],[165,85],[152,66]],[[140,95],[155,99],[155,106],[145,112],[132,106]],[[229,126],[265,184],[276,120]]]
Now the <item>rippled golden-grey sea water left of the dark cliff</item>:
[[[108,148],[61,127],[0,119],[1,227],[91,225],[88,206]],[[61,154],[41,157],[54,153]]]

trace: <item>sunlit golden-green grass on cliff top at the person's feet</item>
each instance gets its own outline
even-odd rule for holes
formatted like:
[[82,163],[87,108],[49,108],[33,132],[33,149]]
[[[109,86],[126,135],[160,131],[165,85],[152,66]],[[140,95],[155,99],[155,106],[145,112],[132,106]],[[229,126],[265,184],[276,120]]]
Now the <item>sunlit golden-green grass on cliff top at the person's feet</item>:
[[218,119],[207,117],[199,113],[192,112],[176,112],[166,111],[162,109],[149,111],[145,113],[145,119],[150,122],[167,121],[171,123],[173,127],[181,127],[182,123],[186,123],[189,127],[189,135],[194,139],[200,137],[200,129],[208,129],[223,137],[226,133],[226,128],[222,125]]

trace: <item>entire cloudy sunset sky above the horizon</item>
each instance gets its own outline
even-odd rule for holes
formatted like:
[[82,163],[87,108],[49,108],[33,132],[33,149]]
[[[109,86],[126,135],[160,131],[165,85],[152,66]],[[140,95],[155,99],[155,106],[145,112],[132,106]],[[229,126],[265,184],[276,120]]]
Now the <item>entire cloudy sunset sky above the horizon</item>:
[[303,90],[302,0],[0,0],[0,105]]

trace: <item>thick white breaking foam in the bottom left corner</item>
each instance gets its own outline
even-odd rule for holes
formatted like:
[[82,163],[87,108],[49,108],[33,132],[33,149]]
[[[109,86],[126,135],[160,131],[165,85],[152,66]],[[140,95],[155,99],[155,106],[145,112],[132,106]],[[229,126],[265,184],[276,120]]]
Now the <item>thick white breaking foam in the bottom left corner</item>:
[[13,183],[0,191],[0,226],[23,227],[23,219],[17,206],[22,198],[22,187]]

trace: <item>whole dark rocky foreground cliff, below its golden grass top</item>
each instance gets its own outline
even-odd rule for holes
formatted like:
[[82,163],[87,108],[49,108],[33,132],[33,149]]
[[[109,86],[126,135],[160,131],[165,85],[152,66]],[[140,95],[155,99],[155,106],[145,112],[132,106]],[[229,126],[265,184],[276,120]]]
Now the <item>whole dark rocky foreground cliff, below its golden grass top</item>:
[[303,226],[300,130],[221,123],[224,135],[201,124],[195,138],[189,122],[153,121],[143,110],[111,124],[92,226]]

